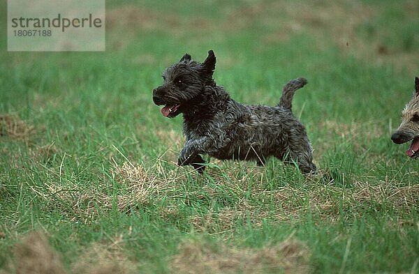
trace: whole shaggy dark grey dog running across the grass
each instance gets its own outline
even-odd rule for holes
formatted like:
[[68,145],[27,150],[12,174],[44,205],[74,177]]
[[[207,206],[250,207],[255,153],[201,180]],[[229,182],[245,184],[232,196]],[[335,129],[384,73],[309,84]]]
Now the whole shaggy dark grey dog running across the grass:
[[306,130],[291,112],[293,95],[307,80],[288,82],[276,107],[242,105],[214,82],[215,62],[212,50],[203,63],[185,54],[164,71],[164,83],[153,91],[154,103],[164,105],[164,116],[183,113],[186,144],[178,165],[192,165],[203,172],[205,161],[200,154],[220,160],[256,160],[258,165],[274,156],[296,162],[304,173],[314,172]]

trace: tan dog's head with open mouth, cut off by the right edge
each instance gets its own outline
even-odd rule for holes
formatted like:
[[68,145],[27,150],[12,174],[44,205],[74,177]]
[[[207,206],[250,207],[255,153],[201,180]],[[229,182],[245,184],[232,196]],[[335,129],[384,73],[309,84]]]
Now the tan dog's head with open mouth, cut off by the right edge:
[[391,136],[395,144],[412,141],[406,155],[411,158],[419,156],[419,79],[415,78],[415,92],[402,112],[402,123]]

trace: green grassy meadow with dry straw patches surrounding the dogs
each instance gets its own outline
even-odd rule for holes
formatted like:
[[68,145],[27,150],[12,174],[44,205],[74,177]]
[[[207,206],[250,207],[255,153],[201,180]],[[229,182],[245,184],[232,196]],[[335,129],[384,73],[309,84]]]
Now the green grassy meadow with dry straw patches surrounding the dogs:
[[[107,1],[105,52],[7,52],[0,24],[0,273],[419,273],[419,160],[390,140],[418,1]],[[308,79],[317,174],[177,167],[152,89],[210,49],[239,102]]]

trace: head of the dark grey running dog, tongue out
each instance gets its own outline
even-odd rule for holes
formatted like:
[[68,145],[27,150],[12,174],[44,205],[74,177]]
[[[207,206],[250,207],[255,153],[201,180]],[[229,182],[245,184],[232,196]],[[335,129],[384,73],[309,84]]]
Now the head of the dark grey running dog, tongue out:
[[186,53],[179,62],[166,68],[162,75],[163,84],[153,90],[154,104],[164,105],[161,114],[173,118],[200,100],[205,86],[214,85],[215,61],[212,50],[203,63],[193,61]]

